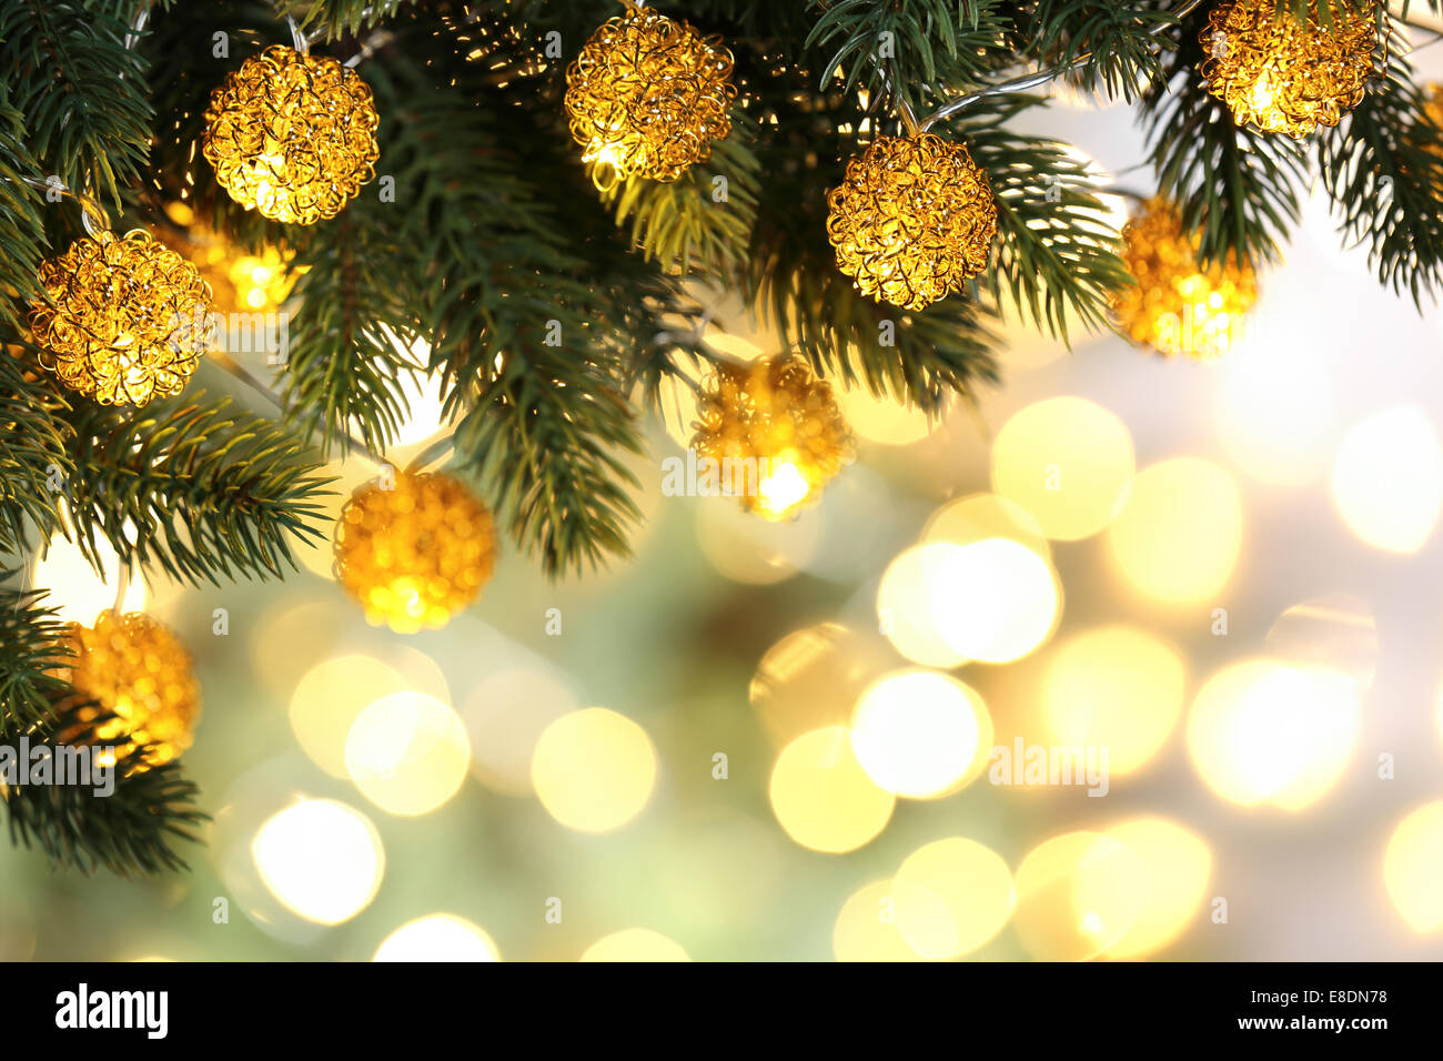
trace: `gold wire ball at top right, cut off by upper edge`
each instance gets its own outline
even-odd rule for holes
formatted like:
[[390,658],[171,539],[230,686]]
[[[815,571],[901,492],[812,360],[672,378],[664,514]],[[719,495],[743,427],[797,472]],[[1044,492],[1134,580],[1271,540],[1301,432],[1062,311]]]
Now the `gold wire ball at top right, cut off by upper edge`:
[[[1240,126],[1302,140],[1336,126],[1362,102],[1374,72],[1378,25],[1333,3],[1332,23],[1278,13],[1274,0],[1224,0],[1208,14],[1202,77]],[[1375,10],[1375,9],[1374,9]]]

